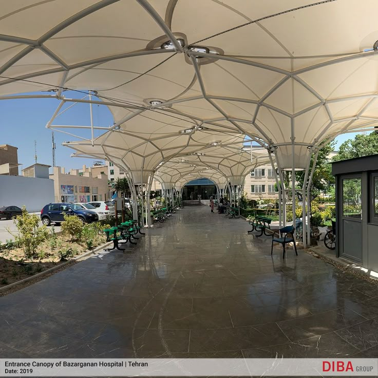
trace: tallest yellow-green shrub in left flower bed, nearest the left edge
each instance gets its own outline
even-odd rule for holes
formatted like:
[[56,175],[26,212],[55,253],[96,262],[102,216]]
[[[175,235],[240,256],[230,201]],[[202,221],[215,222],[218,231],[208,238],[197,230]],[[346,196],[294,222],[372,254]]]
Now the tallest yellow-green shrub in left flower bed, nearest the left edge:
[[36,248],[48,237],[47,227],[45,225],[40,227],[39,221],[40,218],[35,214],[29,214],[25,206],[22,208],[22,215],[18,215],[14,220],[18,230],[15,241],[23,248],[27,259],[35,255]]

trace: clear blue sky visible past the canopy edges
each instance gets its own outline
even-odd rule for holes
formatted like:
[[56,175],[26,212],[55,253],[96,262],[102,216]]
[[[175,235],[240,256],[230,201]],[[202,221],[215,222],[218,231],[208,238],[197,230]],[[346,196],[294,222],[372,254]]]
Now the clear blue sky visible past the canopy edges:
[[[32,94],[32,93],[27,93]],[[49,94],[43,92],[42,94]],[[80,98],[80,93],[66,91],[66,98]],[[18,147],[18,163],[22,164],[21,169],[34,164],[34,141],[36,141],[37,162],[52,165],[51,151],[51,129],[46,128],[47,122],[52,117],[59,101],[56,99],[16,99],[0,101],[0,144],[10,144]],[[68,108],[72,103],[66,103],[61,111]],[[93,125],[108,127],[113,124],[113,117],[106,106],[93,105]],[[52,123],[55,125],[90,125],[89,104],[77,104],[65,111]],[[100,135],[101,130],[95,130],[95,136]],[[84,137],[88,136],[88,130],[77,129],[76,134]],[[344,134],[336,138],[336,147],[354,138],[356,134]],[[98,159],[72,158],[74,152],[71,148],[62,146],[64,141],[77,140],[70,135],[60,131],[54,133],[56,150],[56,165],[63,166],[66,171],[78,169],[86,164],[91,166]],[[51,172],[50,168],[50,172]]]

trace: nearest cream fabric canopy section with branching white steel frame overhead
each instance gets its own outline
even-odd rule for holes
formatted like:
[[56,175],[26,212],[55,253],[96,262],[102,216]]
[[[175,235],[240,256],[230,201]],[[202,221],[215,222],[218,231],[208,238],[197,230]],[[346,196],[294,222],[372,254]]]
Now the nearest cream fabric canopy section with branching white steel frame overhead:
[[378,116],[373,0],[3,3],[1,98],[91,90],[115,125],[69,145],[139,170],[136,182],[224,136],[306,168],[326,140]]

